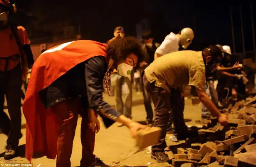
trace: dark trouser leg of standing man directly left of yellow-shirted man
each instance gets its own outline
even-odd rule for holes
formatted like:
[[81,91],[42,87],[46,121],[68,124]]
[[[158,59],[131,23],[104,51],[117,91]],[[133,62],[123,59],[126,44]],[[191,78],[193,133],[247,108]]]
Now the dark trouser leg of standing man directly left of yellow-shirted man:
[[144,82],[143,82],[143,76],[144,76],[144,72],[141,73],[141,85],[142,85],[142,94],[143,94],[143,98],[144,98],[144,107],[147,113],[147,121],[152,121],[154,114],[153,114],[153,109],[151,106],[151,95],[150,93],[147,91],[146,87],[144,86]]

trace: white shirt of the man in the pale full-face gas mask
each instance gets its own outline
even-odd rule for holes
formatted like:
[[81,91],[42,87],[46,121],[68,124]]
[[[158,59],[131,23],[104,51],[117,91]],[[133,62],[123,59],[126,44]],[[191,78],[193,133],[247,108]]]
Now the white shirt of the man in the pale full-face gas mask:
[[177,52],[180,48],[179,43],[180,39],[173,32],[171,32],[164,38],[162,44],[156,49],[156,53],[165,55],[168,53]]

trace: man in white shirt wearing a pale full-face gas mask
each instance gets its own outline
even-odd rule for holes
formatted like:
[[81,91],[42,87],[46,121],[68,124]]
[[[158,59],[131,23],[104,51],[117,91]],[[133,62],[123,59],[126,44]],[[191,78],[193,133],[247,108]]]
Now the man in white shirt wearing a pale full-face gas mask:
[[[156,49],[155,59],[165,54],[187,49],[187,47],[192,43],[193,39],[194,39],[194,32],[191,28],[183,28],[179,34],[174,34],[173,32],[171,32],[169,35],[165,37],[160,47]],[[177,105],[172,106],[172,109],[178,110],[177,113],[179,113],[180,115],[183,115],[184,105],[185,105],[185,101],[183,97],[183,86],[175,90],[172,90],[172,92],[173,93],[175,92],[177,94],[176,95],[177,98],[179,98],[179,101],[177,101]],[[173,117],[171,114],[168,122],[167,133],[173,132],[173,137],[171,140],[176,141],[177,132],[176,132],[175,126],[174,128],[172,128],[172,123],[173,123]]]

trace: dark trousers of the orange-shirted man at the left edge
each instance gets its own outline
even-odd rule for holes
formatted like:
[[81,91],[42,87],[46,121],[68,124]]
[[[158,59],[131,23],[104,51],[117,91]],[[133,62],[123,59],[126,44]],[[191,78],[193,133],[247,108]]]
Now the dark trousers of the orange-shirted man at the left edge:
[[[21,68],[18,64],[15,68],[7,72],[0,72],[0,97],[4,94],[7,100],[7,109],[11,118],[11,130],[8,135],[7,145],[17,147],[21,138]],[[2,105],[2,102],[1,102]],[[2,126],[4,122],[1,121]]]

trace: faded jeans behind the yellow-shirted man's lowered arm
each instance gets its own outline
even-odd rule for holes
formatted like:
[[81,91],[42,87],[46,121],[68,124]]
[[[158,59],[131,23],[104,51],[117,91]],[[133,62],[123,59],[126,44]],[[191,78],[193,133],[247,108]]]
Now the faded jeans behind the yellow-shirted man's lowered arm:
[[[218,107],[218,93],[214,88],[214,81],[208,81],[208,88],[206,89],[206,94],[211,96],[213,104]],[[202,104],[202,115],[210,115],[210,111]]]

